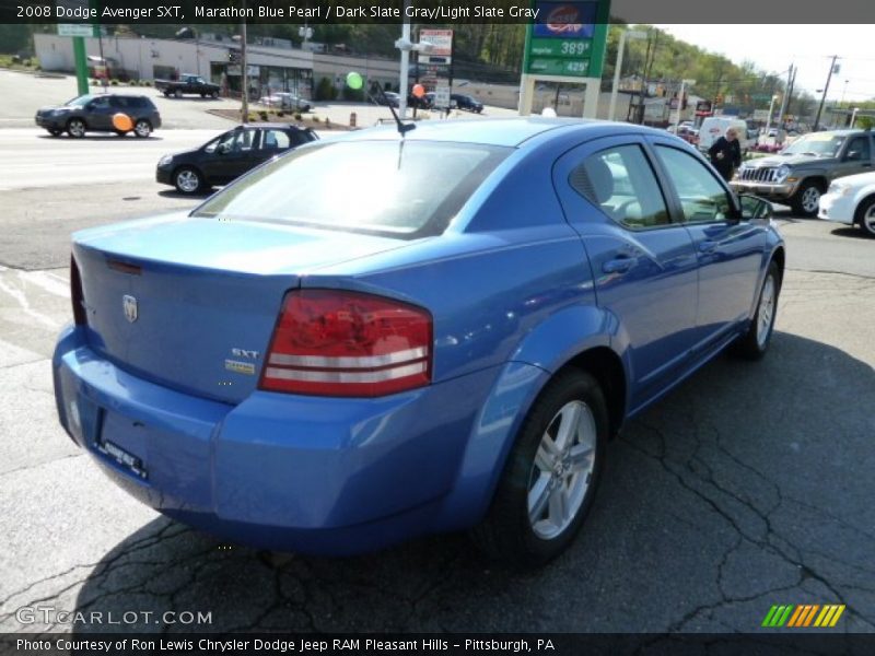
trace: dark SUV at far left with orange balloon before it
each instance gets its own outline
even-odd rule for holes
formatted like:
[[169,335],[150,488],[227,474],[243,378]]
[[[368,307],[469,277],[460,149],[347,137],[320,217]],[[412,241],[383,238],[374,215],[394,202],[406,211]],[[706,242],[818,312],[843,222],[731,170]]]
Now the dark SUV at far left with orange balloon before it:
[[[113,122],[116,114],[130,118],[130,130],[116,127]],[[124,137],[129,131],[145,138],[161,127],[161,114],[151,98],[131,94],[78,96],[61,106],[37,109],[35,120],[52,137],[67,132],[75,139],[81,139],[85,132],[115,132]]]

